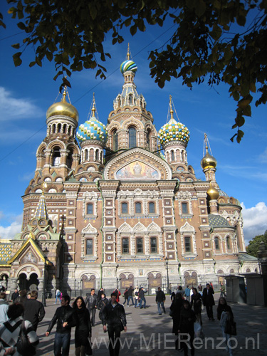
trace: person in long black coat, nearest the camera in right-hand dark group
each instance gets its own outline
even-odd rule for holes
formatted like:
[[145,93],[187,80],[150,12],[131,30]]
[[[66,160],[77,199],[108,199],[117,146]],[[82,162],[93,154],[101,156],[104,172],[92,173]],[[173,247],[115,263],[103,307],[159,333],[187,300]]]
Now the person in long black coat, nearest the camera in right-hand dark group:
[[[183,300],[183,308],[180,314],[178,333],[187,334],[179,337],[178,348],[184,350],[184,356],[188,355],[188,342],[190,342],[191,355],[194,355],[194,322],[196,321],[196,315],[191,309],[191,305],[188,300]],[[184,341],[183,341],[184,340]]]

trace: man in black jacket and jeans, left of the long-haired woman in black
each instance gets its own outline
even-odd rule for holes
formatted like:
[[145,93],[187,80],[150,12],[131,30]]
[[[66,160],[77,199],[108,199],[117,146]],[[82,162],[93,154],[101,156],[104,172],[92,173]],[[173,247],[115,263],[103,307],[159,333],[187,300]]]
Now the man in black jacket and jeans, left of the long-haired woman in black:
[[68,356],[70,350],[71,328],[78,323],[77,314],[75,310],[70,307],[70,297],[68,295],[63,295],[61,299],[61,307],[57,308],[46,331],[46,336],[51,333],[51,330],[56,323],[54,355]]

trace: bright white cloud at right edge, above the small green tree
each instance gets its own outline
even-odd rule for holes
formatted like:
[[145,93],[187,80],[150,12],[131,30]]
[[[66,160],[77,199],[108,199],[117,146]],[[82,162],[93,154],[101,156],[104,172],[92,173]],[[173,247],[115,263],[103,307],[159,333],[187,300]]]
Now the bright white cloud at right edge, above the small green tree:
[[242,206],[242,216],[244,219],[244,237],[246,244],[257,235],[263,235],[267,230],[267,206],[260,201],[256,206],[246,209],[244,203]]

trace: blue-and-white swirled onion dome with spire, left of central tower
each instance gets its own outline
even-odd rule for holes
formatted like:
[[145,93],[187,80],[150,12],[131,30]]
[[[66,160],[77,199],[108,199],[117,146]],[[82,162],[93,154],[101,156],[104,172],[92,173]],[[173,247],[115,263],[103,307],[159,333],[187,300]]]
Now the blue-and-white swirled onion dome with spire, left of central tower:
[[93,109],[90,120],[85,121],[84,124],[79,126],[76,137],[80,143],[87,140],[96,140],[104,144],[107,142],[108,133],[105,125],[95,117],[95,98],[93,99]]

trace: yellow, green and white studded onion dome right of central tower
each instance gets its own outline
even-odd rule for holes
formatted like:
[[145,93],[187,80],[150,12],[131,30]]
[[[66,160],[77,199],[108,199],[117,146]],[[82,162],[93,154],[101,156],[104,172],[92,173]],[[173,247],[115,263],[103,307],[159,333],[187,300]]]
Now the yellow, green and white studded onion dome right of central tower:
[[172,118],[159,130],[158,137],[162,146],[171,141],[182,141],[187,144],[190,133],[185,125],[181,124],[181,122],[175,121],[174,118]]

